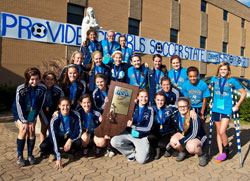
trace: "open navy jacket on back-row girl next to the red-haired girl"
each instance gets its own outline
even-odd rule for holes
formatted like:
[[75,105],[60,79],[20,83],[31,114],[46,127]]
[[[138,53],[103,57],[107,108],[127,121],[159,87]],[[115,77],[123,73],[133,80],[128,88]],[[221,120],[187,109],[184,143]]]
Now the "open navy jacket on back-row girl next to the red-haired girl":
[[[164,73],[164,72],[163,72]],[[166,71],[164,76],[168,76],[168,72]],[[159,82],[161,82],[162,75],[160,76]],[[155,81],[155,69],[149,69],[147,74],[148,86],[149,86],[149,103],[150,105],[154,104],[154,97],[156,94],[156,81]]]

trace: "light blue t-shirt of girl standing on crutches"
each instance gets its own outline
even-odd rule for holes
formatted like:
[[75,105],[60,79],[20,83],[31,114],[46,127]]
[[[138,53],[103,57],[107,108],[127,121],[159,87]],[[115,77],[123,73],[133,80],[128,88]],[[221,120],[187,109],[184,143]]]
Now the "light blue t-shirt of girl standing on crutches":
[[[221,87],[224,82],[224,78],[221,78]],[[232,92],[231,86],[233,85],[235,89],[241,89],[242,86],[240,83],[234,79],[230,78],[226,80],[226,83],[223,87],[223,94],[220,92],[220,78],[212,77],[210,80],[210,85],[214,86],[214,98],[213,98],[213,112],[232,115]],[[222,90],[222,89],[221,89]]]

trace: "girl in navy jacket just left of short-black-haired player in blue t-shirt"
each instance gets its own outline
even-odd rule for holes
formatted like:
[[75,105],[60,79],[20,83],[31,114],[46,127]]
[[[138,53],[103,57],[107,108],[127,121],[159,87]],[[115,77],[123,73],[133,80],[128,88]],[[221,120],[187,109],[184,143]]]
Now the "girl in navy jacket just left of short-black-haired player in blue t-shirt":
[[176,105],[179,97],[181,97],[180,91],[173,87],[169,77],[163,77],[161,79],[161,90],[166,96],[166,105]]

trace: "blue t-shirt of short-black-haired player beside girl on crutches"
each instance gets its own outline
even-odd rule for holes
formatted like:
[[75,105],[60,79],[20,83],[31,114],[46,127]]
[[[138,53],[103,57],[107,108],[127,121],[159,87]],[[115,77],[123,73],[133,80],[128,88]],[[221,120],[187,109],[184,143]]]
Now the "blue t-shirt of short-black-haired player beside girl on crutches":
[[209,88],[203,80],[199,80],[197,85],[191,84],[190,81],[185,82],[181,92],[184,97],[189,98],[192,107],[202,107],[203,98],[210,97]]

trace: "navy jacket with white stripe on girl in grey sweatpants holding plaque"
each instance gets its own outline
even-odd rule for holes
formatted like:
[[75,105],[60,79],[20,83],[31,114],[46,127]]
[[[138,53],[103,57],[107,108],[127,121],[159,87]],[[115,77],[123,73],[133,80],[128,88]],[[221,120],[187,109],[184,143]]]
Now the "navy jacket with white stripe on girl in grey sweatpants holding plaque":
[[[136,105],[133,113],[133,125],[131,126],[132,129],[139,132],[139,138],[143,138],[147,136],[154,123],[154,110],[152,107],[145,105],[144,106],[144,113],[142,115],[142,119],[138,122],[139,117],[139,106]],[[131,133],[131,128],[128,128],[128,132]]]

